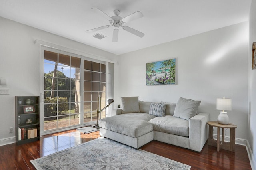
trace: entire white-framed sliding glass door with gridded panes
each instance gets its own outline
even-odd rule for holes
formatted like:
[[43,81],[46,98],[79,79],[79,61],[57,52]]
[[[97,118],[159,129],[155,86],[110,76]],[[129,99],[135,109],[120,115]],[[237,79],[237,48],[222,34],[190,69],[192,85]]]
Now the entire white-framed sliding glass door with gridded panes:
[[108,79],[114,64],[48,47],[42,48],[42,55],[42,134],[96,124],[97,110],[106,106],[107,96],[113,98],[114,81]]

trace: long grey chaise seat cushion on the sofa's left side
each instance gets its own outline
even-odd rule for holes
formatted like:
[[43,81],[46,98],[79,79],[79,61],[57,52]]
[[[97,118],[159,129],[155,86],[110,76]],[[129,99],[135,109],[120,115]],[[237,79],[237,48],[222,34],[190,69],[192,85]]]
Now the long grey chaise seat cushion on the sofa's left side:
[[148,113],[126,113],[100,119],[102,128],[137,138],[153,130],[148,121],[155,118]]

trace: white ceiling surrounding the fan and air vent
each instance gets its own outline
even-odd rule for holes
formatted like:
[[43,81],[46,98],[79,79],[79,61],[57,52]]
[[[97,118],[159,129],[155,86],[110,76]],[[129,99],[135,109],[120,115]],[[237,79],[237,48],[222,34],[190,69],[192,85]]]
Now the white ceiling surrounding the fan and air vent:
[[[194,34],[248,21],[251,0],[0,0],[0,16],[120,55]],[[98,31],[98,40],[85,31],[109,25],[95,14],[120,10],[125,17],[136,11],[144,17],[124,25],[145,33],[143,38],[113,27]]]

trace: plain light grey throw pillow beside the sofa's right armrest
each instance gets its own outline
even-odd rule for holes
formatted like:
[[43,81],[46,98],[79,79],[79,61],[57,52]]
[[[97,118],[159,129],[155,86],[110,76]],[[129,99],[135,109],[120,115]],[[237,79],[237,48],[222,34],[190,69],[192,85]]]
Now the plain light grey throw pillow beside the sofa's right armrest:
[[180,97],[176,104],[173,116],[188,120],[198,113],[200,103],[201,101]]

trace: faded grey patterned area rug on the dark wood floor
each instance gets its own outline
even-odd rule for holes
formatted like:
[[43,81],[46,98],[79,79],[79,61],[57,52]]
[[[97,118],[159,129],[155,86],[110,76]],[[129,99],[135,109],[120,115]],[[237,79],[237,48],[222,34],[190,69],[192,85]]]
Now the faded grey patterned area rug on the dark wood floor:
[[37,170],[190,170],[191,166],[98,138],[31,160]]

